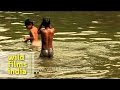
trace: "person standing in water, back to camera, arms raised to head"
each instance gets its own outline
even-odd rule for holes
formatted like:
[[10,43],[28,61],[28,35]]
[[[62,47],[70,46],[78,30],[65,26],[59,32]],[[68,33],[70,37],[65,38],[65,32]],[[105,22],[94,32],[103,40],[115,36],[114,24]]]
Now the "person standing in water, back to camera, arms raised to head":
[[[53,57],[53,36],[55,29],[51,28],[49,18],[43,18],[38,33],[41,34],[41,57]],[[44,27],[44,28],[42,28]]]

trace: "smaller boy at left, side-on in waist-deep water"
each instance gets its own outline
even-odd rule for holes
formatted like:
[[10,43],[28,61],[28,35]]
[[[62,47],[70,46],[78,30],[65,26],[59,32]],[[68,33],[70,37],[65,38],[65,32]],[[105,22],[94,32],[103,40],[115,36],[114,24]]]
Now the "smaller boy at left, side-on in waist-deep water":
[[38,29],[34,26],[33,22],[26,19],[25,26],[29,30],[29,36],[24,37],[25,42],[30,40],[32,46],[40,46],[38,42]]

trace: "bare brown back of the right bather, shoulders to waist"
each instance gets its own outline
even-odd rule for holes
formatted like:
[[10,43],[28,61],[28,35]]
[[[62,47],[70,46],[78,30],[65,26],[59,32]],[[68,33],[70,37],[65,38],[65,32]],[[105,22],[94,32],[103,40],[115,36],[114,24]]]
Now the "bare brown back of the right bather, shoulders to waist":
[[53,48],[54,28],[47,28],[41,30],[42,50]]

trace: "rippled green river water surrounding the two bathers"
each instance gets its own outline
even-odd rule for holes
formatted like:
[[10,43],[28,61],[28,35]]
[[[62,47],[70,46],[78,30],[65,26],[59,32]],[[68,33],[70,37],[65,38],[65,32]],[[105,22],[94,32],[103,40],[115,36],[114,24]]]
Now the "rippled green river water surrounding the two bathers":
[[35,78],[119,78],[120,12],[0,11],[0,50],[31,51],[23,43],[28,34],[24,20],[39,27],[50,17],[56,29],[54,57],[39,58],[35,52]]

